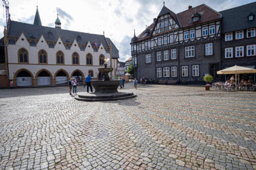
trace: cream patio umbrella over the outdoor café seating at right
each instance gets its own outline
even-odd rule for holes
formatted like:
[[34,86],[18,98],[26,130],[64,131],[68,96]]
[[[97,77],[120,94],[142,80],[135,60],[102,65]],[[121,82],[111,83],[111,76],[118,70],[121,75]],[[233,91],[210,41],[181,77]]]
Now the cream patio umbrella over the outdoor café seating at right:
[[256,73],[256,69],[234,65],[232,67],[228,67],[228,68],[217,71],[218,75],[236,74],[236,82],[237,82],[237,74],[250,74],[250,73]]

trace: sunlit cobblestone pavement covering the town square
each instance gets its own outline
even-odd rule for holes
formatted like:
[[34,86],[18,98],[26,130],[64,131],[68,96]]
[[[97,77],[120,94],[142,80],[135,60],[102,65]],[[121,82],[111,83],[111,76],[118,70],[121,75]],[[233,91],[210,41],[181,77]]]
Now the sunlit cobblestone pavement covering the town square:
[[0,169],[256,168],[256,92],[127,89],[137,98],[94,103],[68,87],[0,90]]

